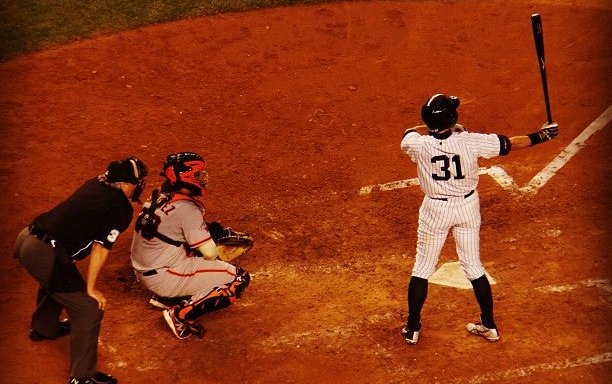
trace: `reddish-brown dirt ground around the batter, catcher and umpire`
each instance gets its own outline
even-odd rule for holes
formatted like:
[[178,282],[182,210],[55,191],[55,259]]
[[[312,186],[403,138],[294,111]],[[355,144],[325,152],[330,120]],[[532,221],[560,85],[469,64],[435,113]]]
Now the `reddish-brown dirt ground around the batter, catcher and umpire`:
[[[36,285],[12,259],[18,231],[117,157],[149,165],[148,193],[180,150],[209,162],[210,219],[255,235],[239,263],[253,283],[237,305],[201,318],[203,339],[179,341],[147,304],[122,235],[99,281],[109,300],[99,368],[121,383],[609,382],[609,124],[571,143],[612,105],[612,7],[575,3],[276,8],[0,64],[0,382],[68,375],[67,339],[27,338]],[[430,284],[409,347],[400,329],[422,193],[380,186],[416,177],[399,142],[433,92],[457,94],[473,131],[512,136],[544,122],[535,12],[561,134],[482,166],[521,187],[564,149],[573,157],[532,195],[481,177],[501,341],[465,331],[478,315],[471,290]],[[441,263],[456,259],[450,241]]]

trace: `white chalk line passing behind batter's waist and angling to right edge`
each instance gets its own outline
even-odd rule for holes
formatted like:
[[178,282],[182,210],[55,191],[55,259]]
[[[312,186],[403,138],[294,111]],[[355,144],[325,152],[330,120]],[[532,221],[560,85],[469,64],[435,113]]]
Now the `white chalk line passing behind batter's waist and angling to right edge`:
[[[517,195],[534,195],[550,180],[580,149],[585,142],[595,133],[605,128],[612,120],[612,105],[606,109],[595,121],[593,121],[578,137],[574,139],[557,157],[555,157],[544,169],[531,179],[527,184],[519,187],[512,176],[499,166],[481,167],[478,174],[491,176],[504,190]],[[373,191],[392,191],[395,189],[408,188],[419,185],[419,180],[406,179],[392,181],[384,184],[375,184],[362,187],[360,195],[368,195]]]

